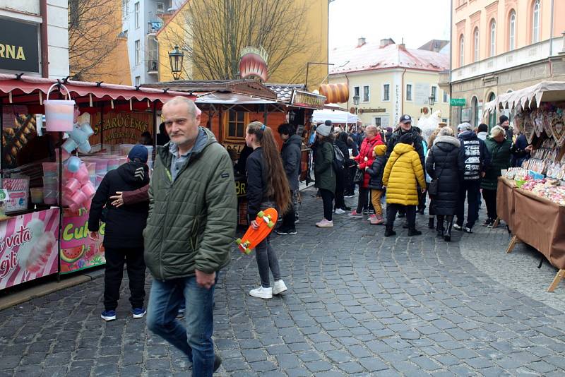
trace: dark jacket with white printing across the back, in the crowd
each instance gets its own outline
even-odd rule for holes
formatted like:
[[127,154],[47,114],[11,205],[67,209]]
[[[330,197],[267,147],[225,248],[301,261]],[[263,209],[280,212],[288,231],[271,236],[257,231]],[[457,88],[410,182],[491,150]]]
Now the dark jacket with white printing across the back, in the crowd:
[[477,138],[473,131],[460,133],[458,139],[461,143],[459,149],[460,164],[463,165],[464,181],[478,181],[481,173],[486,171],[490,164],[490,153],[484,141]]

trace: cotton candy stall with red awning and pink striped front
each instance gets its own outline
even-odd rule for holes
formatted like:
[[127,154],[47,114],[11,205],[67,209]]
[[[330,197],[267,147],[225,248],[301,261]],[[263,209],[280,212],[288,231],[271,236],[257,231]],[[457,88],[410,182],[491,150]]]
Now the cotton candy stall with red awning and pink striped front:
[[177,95],[189,96],[0,74],[0,289],[105,263],[88,238],[90,199]]

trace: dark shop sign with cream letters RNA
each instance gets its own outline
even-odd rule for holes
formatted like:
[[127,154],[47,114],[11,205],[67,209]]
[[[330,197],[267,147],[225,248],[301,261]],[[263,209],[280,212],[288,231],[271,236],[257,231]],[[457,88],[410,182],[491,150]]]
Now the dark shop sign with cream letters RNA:
[[0,18],[0,69],[40,72],[39,26]]

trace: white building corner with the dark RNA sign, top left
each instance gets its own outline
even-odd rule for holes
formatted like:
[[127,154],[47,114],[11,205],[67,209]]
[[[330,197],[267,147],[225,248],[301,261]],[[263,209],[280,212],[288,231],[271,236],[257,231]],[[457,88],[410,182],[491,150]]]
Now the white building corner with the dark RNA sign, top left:
[[66,0],[0,0],[0,72],[69,76]]

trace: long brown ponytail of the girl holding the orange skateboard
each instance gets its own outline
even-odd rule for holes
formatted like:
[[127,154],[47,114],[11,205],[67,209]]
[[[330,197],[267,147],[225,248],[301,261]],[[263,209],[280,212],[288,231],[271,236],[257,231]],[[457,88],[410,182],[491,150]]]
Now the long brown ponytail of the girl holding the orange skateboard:
[[273,131],[261,122],[253,121],[247,125],[247,133],[255,135],[257,143],[263,148],[264,166],[267,170],[267,196],[275,199],[281,214],[286,213],[290,208],[290,186]]

